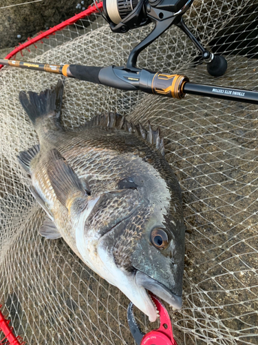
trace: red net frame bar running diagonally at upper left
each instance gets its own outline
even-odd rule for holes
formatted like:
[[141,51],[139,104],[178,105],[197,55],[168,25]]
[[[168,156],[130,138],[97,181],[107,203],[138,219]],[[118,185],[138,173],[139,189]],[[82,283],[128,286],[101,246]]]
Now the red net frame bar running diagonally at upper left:
[[[60,23],[60,24],[54,26],[53,28],[50,28],[49,30],[47,30],[45,32],[39,33],[33,39],[28,39],[28,41],[20,44],[18,47],[16,47],[14,50],[12,50],[12,52],[10,52],[5,57],[5,59],[10,59],[11,57],[14,57],[15,55],[17,55],[17,52],[21,52],[21,50],[28,48],[32,44],[39,42],[39,41],[42,41],[42,39],[48,38],[50,36],[50,34],[54,34],[56,31],[63,30],[66,26],[69,26],[69,25],[76,23],[76,21],[78,21],[79,19],[83,19],[83,18],[89,16],[90,14],[98,12],[98,9],[101,10],[103,8],[103,2],[98,3],[97,6],[98,6],[98,8],[96,8],[95,5],[89,6],[89,8],[87,8],[87,10],[80,12],[78,14],[75,14],[74,17],[71,17],[71,18],[67,19],[66,21],[63,21],[63,23]],[[0,65],[0,69],[2,67],[3,67],[3,65]]]

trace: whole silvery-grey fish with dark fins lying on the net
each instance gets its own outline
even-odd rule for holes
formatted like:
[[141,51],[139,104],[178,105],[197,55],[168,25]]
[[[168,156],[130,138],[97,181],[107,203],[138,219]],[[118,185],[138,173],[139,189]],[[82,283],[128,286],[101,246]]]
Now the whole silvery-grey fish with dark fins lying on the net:
[[182,307],[185,226],[178,179],[164,158],[160,128],[114,112],[84,126],[61,124],[64,83],[19,101],[39,144],[19,152],[30,192],[45,211],[39,233],[63,237],[74,253],[149,317],[149,291]]

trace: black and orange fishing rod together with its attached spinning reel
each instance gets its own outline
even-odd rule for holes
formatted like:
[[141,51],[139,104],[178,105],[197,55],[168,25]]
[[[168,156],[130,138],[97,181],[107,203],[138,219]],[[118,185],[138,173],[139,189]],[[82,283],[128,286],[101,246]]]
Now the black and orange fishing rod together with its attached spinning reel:
[[184,75],[169,75],[137,67],[140,52],[175,25],[200,50],[208,73],[214,77],[224,75],[228,66],[226,59],[206,50],[184,23],[182,15],[189,9],[193,0],[103,0],[103,3],[98,4],[94,0],[94,3],[113,32],[124,33],[151,22],[155,24],[147,37],[131,50],[125,66],[55,65],[6,59],[0,59],[0,65],[57,73],[120,90],[141,90],[177,99],[191,94],[258,104],[258,92],[255,91],[192,83]]

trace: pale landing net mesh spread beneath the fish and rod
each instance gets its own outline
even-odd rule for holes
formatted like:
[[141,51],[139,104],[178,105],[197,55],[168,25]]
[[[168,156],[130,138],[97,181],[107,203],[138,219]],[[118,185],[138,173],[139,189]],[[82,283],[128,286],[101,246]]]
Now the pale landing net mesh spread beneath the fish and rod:
[[[258,90],[257,14],[255,0],[196,0],[184,16],[204,46],[226,57],[223,77],[208,75],[193,43],[175,27],[140,54],[138,65]],[[114,34],[94,15],[25,51],[23,59],[120,66],[150,30]],[[19,151],[38,143],[18,93],[39,92],[57,79],[21,69],[0,72],[0,303],[28,344],[135,344],[127,297],[80,262],[63,239],[39,235],[43,211],[17,162]],[[106,110],[160,126],[166,159],[180,181],[186,222],[183,307],[166,306],[178,345],[258,344],[257,106],[65,81],[66,128]],[[142,313],[136,316],[142,331],[153,328]]]

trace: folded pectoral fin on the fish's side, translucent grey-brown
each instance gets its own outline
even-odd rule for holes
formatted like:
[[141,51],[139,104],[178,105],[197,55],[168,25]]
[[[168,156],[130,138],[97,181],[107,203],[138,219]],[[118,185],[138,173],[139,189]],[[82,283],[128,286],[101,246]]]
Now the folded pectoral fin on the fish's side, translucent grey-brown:
[[57,199],[67,207],[74,197],[84,197],[85,189],[65,158],[53,148],[49,153],[47,175]]

